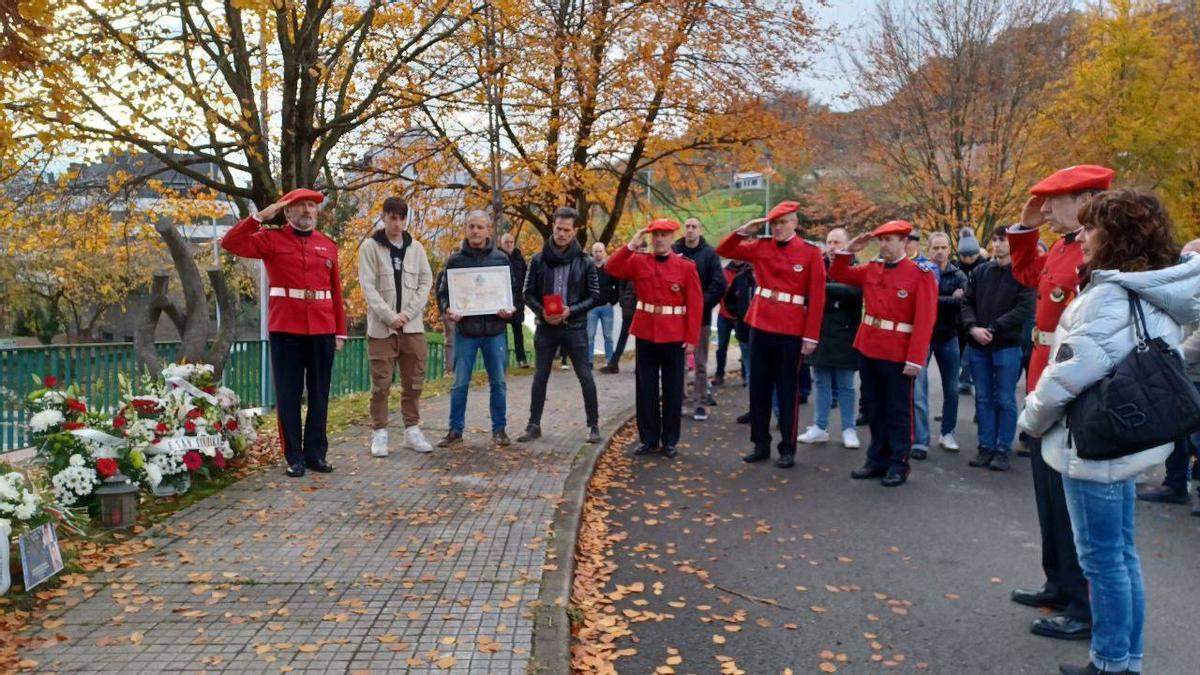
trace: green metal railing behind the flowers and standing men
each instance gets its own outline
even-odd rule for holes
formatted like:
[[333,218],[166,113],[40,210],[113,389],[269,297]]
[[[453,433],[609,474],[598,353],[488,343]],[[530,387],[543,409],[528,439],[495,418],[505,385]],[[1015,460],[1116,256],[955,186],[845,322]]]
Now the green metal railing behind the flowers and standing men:
[[[428,357],[425,378],[445,376],[445,345],[438,333],[427,333]],[[511,346],[511,334],[509,335]],[[155,345],[164,360],[173,362],[178,342]],[[245,340],[233,345],[222,376],[226,387],[238,393],[246,407],[275,405],[268,342]],[[509,350],[509,365],[514,351]],[[475,371],[482,370],[476,359]],[[29,411],[25,398],[37,388],[34,376],[53,375],[62,386],[77,384],[92,410],[113,410],[120,399],[118,375],[134,378],[139,371],[137,354],[130,342],[106,345],[53,345],[0,350],[0,453],[29,444]],[[342,396],[371,389],[365,338],[350,338],[334,359],[330,395]]]

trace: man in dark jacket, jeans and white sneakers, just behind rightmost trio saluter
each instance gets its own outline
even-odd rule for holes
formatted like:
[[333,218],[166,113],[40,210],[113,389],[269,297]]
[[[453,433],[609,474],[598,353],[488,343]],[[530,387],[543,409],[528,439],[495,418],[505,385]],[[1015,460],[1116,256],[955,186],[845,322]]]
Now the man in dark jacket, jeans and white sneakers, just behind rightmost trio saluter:
[[937,265],[938,271],[937,322],[934,323],[934,336],[929,341],[929,358],[917,376],[913,395],[917,429],[912,459],[925,459],[925,450],[930,447],[929,364],[934,359],[937,359],[937,371],[942,376],[942,429],[937,444],[944,450],[959,452],[959,442],[954,438],[954,428],[959,422],[959,372],[962,366],[959,351],[959,307],[967,286],[967,275],[950,262],[950,237],[944,232],[935,232],[929,237],[929,259]]

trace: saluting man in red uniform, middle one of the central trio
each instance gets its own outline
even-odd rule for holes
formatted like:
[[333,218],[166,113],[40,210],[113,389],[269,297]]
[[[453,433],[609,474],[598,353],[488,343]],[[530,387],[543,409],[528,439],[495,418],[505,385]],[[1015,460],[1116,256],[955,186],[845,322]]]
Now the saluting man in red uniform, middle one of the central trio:
[[[779,395],[779,459],[796,465],[799,435],[799,383],[804,357],[821,339],[824,317],[824,258],[821,249],[796,234],[797,202],[780,202],[764,219],[754,219],[716,246],[718,255],[754,265],[757,287],[746,312],[750,324],[750,441],[743,461],[770,458],[772,394]],[[770,237],[758,237],[763,223]]]

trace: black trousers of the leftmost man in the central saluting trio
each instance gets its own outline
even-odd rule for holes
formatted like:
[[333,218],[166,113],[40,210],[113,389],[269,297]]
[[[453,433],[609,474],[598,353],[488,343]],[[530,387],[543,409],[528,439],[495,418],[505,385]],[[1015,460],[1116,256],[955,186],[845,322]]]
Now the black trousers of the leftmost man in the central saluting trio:
[[637,436],[647,446],[679,444],[683,417],[683,342],[637,341]]

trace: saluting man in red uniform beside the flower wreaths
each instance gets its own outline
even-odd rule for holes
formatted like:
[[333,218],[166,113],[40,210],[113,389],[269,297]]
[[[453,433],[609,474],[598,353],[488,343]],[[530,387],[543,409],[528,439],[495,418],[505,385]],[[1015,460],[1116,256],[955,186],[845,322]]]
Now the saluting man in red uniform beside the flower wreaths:
[[[221,246],[235,256],[260,258],[270,285],[268,330],[275,411],[287,458],[287,474],[306,468],[329,473],[325,417],[334,352],[346,342],[346,310],[337,268],[337,244],[316,231],[320,192],[293,190],[235,225]],[[264,228],[283,211],[287,225]],[[300,426],[300,398],[308,390],[308,418]]]

